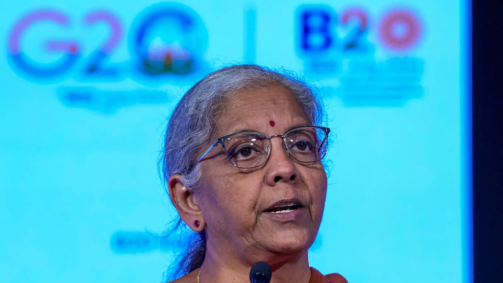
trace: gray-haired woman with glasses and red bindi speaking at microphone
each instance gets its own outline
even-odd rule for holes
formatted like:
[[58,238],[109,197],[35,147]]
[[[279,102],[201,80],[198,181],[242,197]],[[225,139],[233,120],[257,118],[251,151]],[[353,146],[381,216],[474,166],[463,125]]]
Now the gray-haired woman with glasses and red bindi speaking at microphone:
[[197,232],[176,283],[248,283],[268,262],[271,283],[347,282],[309,267],[323,215],[329,129],[310,88],[291,75],[236,65],[181,99],[166,129],[162,174],[171,201]]

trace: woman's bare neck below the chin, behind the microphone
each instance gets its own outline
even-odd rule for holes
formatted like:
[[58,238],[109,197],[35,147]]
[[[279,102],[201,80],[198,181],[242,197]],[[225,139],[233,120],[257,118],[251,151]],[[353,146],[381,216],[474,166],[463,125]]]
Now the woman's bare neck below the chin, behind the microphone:
[[249,283],[251,266],[261,260],[271,265],[273,270],[271,283],[308,283],[311,278],[307,251],[300,255],[278,255],[257,249],[243,254],[229,253],[227,249],[218,248],[212,241],[207,241],[200,281],[201,283]]

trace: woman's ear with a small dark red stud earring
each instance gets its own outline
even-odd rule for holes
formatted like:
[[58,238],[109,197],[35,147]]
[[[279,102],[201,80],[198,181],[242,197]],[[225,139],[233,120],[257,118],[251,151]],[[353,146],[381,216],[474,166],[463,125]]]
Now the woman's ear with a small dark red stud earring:
[[[180,174],[173,174],[167,180],[167,189],[170,199],[180,215],[180,218],[195,232],[204,230],[206,222],[204,221],[201,208],[194,199],[194,193],[189,191],[182,183]],[[195,221],[199,221],[199,227],[196,227]]]

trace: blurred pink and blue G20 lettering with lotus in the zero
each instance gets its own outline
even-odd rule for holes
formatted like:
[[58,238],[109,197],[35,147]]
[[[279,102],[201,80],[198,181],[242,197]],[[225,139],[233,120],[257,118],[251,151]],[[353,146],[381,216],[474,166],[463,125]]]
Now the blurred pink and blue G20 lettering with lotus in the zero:
[[[64,78],[76,65],[82,66],[78,78],[110,80],[125,76],[124,69],[151,80],[162,75],[187,75],[202,64],[208,44],[208,32],[192,9],[177,3],[161,3],[143,10],[133,20],[128,35],[128,49],[133,68],[114,66],[108,58],[122,43],[124,29],[120,20],[108,11],[93,11],[83,16],[81,24],[91,27],[105,23],[110,36],[89,56],[81,54],[85,43],[77,40],[46,40],[42,46],[61,57],[49,64],[37,62],[23,52],[22,40],[27,30],[40,23],[53,23],[69,29],[71,20],[57,10],[39,10],[25,15],[12,28],[9,36],[9,57],[20,75],[34,79]],[[84,61],[84,63],[82,63]],[[122,73],[121,73],[122,72]],[[164,77],[162,77],[164,78]]]

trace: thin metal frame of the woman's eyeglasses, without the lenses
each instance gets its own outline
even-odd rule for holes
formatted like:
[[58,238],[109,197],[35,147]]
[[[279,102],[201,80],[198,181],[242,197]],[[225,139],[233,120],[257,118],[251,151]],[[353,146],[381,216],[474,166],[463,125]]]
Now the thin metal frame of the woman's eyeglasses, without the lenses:
[[[293,154],[290,152],[290,149],[288,149],[288,147],[286,146],[286,135],[288,135],[290,132],[292,131],[295,131],[295,130],[298,130],[298,129],[302,129],[302,128],[318,128],[318,129],[321,129],[323,130],[323,132],[325,133],[325,138],[323,138],[323,140],[321,141],[320,145],[323,145],[323,143],[327,143],[326,145],[326,150],[325,150],[325,153],[323,154],[322,157],[320,157],[319,159],[317,160],[314,160],[314,161],[300,161],[298,160],[297,158],[295,158],[293,156]],[[237,168],[241,168],[241,169],[249,169],[249,168],[256,168],[256,167],[260,167],[262,165],[264,165],[264,163],[267,162],[267,160],[269,160],[269,156],[271,155],[271,151],[269,150],[267,152],[267,157],[266,159],[264,160],[264,162],[262,162],[260,165],[257,165],[257,166],[253,166],[253,167],[239,167],[239,166],[236,166],[234,163],[232,163],[232,161],[230,161],[230,158],[229,158],[229,155],[227,154],[227,150],[225,149],[225,140],[231,136],[231,135],[235,135],[235,134],[240,134],[240,133],[254,133],[254,134],[261,134],[263,136],[266,136],[268,141],[269,141],[269,145],[271,146],[271,137],[275,137],[275,136],[280,136],[283,138],[283,143],[284,145],[286,146],[286,150],[288,151],[288,154],[293,157],[295,160],[297,160],[298,162],[302,162],[302,163],[312,163],[312,162],[316,162],[316,161],[320,161],[322,160],[325,155],[326,155],[326,152],[328,151],[328,133],[330,132],[330,128],[327,128],[327,127],[321,127],[321,126],[302,126],[302,127],[298,127],[298,128],[294,128],[294,129],[291,129],[289,131],[287,131],[285,134],[274,134],[274,135],[267,135],[265,133],[262,133],[262,132],[254,132],[254,131],[244,131],[244,132],[236,132],[236,133],[232,133],[232,134],[228,134],[226,136],[222,136],[222,137],[219,137],[217,138],[216,142],[213,143],[213,145],[203,154],[203,156],[201,156],[201,158],[196,162],[196,164],[194,164],[194,166],[192,166],[192,168],[189,170],[192,171],[192,169],[194,169],[194,167],[196,167],[197,164],[199,164],[199,162],[211,151],[211,149],[213,149],[214,147],[216,147],[217,144],[221,144],[222,147],[224,148],[224,151],[225,151],[225,156],[227,156],[227,159],[229,160],[230,164],[234,165],[235,167]]]

